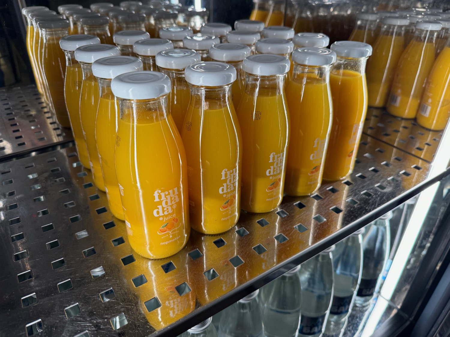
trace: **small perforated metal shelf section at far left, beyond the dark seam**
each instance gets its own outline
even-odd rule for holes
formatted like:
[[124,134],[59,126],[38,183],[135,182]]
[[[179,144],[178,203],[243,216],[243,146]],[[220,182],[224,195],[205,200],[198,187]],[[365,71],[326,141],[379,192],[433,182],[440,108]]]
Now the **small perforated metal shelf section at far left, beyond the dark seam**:
[[73,139],[49,111],[36,86],[0,89],[0,160]]

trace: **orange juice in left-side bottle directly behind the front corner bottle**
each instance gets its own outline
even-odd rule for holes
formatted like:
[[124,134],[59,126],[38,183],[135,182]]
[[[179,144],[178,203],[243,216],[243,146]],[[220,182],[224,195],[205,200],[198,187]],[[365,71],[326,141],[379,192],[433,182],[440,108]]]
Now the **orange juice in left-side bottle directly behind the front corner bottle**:
[[115,96],[109,91],[104,93],[99,101],[99,110],[95,121],[95,140],[97,141],[109,209],[112,215],[125,220],[114,164],[114,148],[118,126],[119,105]]

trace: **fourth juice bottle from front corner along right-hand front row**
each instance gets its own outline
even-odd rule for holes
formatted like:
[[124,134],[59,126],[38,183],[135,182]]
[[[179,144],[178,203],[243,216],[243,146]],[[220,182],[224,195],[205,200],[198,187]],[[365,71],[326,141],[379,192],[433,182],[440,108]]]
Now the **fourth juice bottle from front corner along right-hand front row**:
[[322,182],[333,116],[329,74],[336,53],[304,47],[294,50],[292,58],[294,72],[286,89],[291,139],[284,193],[310,195]]

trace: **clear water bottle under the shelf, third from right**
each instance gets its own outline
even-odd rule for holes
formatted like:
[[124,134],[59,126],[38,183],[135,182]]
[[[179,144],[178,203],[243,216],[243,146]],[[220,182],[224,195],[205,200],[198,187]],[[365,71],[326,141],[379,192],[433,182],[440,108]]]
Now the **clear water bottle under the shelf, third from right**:
[[334,246],[302,263],[299,337],[319,337],[323,333],[333,298],[333,249]]

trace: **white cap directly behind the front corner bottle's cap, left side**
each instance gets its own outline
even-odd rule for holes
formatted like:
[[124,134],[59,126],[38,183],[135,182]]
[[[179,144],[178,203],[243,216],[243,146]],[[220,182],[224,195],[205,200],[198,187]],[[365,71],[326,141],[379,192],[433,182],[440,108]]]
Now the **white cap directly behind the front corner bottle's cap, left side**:
[[92,63],[92,74],[100,78],[114,78],[131,71],[143,71],[144,65],[133,56],[110,56]]

